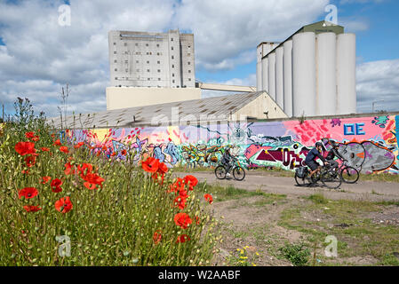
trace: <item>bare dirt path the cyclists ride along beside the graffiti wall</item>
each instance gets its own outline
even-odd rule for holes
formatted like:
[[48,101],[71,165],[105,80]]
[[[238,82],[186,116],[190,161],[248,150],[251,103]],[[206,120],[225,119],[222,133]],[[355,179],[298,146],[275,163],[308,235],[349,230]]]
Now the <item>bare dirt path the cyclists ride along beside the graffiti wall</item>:
[[[184,177],[187,173],[175,172],[178,177]],[[363,201],[399,201],[399,183],[375,182],[359,180],[354,185],[343,183],[339,189],[333,190],[322,186],[300,187],[296,185],[293,177],[276,177],[273,173],[247,171],[243,181],[233,178],[219,180],[213,172],[190,173],[200,182],[219,185],[233,185],[250,191],[261,190],[266,193],[286,194],[287,196],[308,196],[315,193],[323,193],[326,198],[332,200],[363,200]]]

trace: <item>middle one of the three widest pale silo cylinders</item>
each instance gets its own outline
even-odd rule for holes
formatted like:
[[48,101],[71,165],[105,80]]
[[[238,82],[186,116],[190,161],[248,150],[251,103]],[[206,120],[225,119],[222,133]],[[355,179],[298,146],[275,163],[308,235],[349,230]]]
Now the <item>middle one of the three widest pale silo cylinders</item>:
[[335,33],[316,36],[317,115],[331,115],[336,111],[336,37]]

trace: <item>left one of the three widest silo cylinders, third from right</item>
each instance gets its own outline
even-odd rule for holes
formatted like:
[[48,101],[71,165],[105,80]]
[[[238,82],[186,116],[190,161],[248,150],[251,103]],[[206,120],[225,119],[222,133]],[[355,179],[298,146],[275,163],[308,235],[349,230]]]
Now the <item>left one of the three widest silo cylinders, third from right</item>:
[[292,36],[293,115],[315,115],[315,33]]

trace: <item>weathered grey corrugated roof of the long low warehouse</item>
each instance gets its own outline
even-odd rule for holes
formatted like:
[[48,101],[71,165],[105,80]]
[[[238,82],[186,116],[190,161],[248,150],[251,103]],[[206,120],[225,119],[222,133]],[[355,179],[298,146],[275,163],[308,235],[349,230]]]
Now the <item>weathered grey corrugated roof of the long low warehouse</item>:
[[128,107],[93,114],[75,114],[63,119],[62,126],[60,117],[49,118],[47,121],[56,129],[177,125],[187,124],[187,121],[226,121],[229,114],[234,114],[262,93],[263,91],[254,91],[207,99]]

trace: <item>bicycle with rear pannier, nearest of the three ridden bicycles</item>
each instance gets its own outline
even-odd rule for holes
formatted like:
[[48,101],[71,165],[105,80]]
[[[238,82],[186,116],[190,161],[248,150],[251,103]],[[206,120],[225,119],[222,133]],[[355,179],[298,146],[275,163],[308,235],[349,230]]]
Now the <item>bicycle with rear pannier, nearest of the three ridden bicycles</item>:
[[342,184],[342,177],[333,170],[330,164],[322,166],[321,170],[315,172],[312,177],[309,177],[310,171],[307,167],[301,167],[295,170],[295,181],[299,186],[315,185],[317,181],[321,180],[323,185],[331,189],[337,189]]

